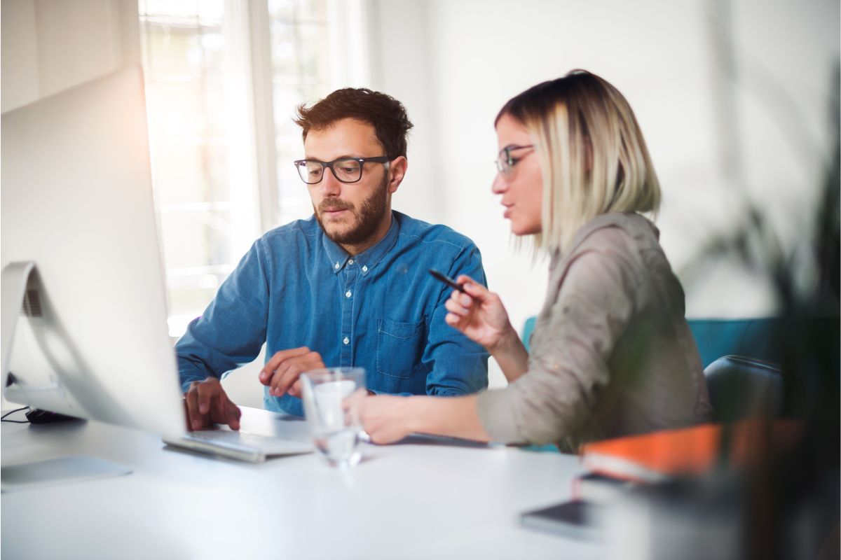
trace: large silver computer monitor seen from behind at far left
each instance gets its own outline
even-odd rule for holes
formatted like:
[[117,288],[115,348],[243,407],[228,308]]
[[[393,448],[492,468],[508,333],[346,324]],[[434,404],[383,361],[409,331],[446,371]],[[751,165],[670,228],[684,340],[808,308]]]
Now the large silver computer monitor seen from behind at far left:
[[3,396],[183,433],[140,67],[2,125]]

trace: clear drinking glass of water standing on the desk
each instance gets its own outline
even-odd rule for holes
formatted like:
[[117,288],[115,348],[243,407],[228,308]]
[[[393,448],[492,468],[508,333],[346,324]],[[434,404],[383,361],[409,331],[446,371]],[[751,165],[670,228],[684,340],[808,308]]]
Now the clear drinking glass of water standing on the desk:
[[313,369],[301,374],[304,415],[315,447],[332,465],[353,465],[362,456],[359,407],[365,390],[365,369]]

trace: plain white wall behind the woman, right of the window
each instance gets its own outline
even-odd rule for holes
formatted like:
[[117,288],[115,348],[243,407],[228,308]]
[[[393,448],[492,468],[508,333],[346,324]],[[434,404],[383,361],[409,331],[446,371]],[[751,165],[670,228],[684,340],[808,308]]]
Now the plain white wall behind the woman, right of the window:
[[508,98],[574,68],[611,81],[637,113],[663,185],[661,240],[684,283],[688,316],[775,311],[767,281],[744,263],[717,259],[700,272],[691,264],[712,236],[743,223],[748,200],[769,215],[785,247],[807,242],[819,162],[832,145],[837,2],[734,2],[734,76],[716,35],[723,2],[373,0],[373,7],[373,86],[405,102],[415,122],[394,207],[473,238],[512,322],[539,310],[546,264],[530,266],[510,248],[490,192],[493,119]]

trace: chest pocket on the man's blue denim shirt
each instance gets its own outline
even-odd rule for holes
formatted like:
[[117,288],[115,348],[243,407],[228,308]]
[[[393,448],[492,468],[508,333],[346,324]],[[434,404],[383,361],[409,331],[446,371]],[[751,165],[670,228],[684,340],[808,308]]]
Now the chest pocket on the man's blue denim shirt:
[[377,373],[409,379],[425,370],[421,362],[426,346],[425,326],[425,321],[380,319],[377,322]]

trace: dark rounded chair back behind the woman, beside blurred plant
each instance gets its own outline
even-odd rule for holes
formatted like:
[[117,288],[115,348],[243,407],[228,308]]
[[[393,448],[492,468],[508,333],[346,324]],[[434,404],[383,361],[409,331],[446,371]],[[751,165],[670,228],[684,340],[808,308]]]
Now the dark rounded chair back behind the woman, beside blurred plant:
[[724,356],[704,369],[715,421],[782,415],[783,382],[780,367],[745,356]]

